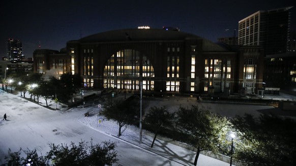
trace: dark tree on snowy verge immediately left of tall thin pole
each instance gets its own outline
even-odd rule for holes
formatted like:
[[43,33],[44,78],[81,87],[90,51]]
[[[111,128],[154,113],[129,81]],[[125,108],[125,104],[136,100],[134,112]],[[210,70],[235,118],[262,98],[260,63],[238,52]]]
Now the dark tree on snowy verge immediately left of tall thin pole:
[[[109,103],[102,114],[109,120],[115,120],[119,125],[118,136],[121,136],[121,129],[125,125],[135,125],[139,121],[140,105],[137,98],[130,97],[124,101]],[[142,111],[143,114],[143,111]]]

